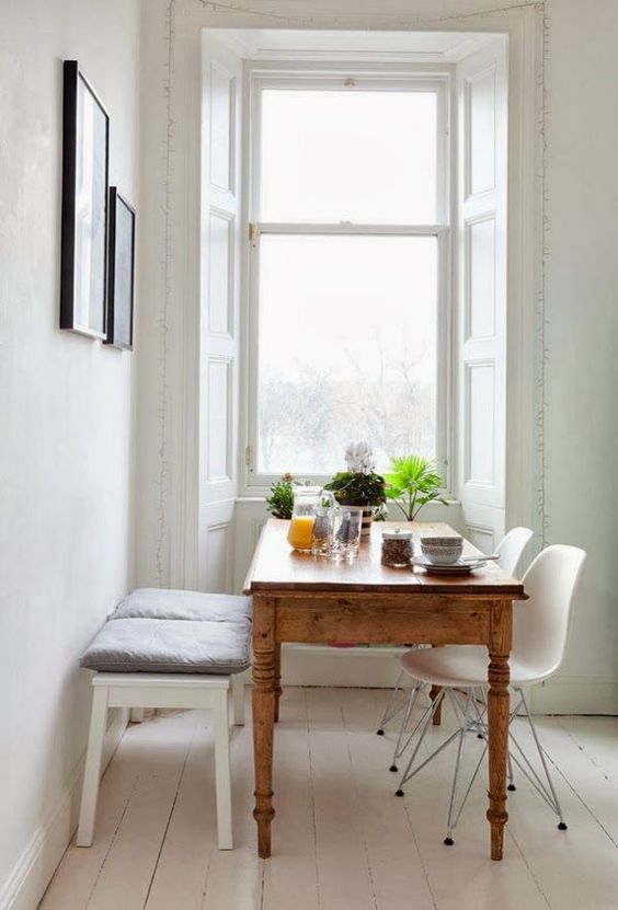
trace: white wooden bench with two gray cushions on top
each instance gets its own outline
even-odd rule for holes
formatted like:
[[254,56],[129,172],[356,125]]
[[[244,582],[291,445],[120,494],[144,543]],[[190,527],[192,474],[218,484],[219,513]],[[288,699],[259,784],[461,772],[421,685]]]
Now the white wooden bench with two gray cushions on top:
[[94,670],[78,846],[94,836],[103,737],[111,707],[207,709],[215,726],[220,850],[232,848],[229,717],[244,723],[251,601],[230,595],[139,588],[123,598],[85,654]]

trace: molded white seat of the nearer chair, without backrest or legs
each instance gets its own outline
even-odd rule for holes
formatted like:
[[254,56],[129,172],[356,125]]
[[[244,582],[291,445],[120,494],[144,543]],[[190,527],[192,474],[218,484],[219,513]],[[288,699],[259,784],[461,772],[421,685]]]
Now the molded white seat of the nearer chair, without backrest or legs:
[[[514,607],[517,609],[517,606]],[[488,649],[484,645],[447,645],[425,650],[409,650],[401,658],[401,667],[420,682],[432,686],[487,686]],[[533,666],[514,654],[510,660],[511,684],[526,686],[541,682],[554,671]]]

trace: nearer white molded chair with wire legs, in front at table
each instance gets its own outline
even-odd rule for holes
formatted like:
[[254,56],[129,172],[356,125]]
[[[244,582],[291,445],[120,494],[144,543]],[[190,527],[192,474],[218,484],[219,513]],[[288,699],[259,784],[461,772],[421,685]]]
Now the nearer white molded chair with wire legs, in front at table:
[[[526,775],[535,790],[545,798],[559,818],[558,827],[566,829],[562,809],[553,787],[543,749],[540,745],[535,724],[530,716],[524,686],[533,686],[551,677],[560,667],[566,649],[571,607],[576,584],[584,565],[586,554],[576,546],[556,544],[543,550],[533,562],[524,576],[524,587],[528,600],[518,601],[513,610],[513,650],[511,655],[511,686],[516,693],[516,704],[511,711],[508,790],[513,784],[513,763]],[[404,725],[408,725],[412,709],[419,693],[430,686],[440,687],[440,692],[424,711],[414,729],[408,735],[407,742],[415,738],[414,747],[405,771],[403,772],[397,796],[403,796],[403,786],[421,771],[438,752],[450,742],[457,741],[457,761],[450,792],[447,834],[445,843],[453,844],[453,832],[459,820],[466,798],[479,772],[488,748],[487,714],[487,648],[472,645],[453,645],[426,650],[410,650],[401,658],[403,672],[413,678],[414,684],[405,712]],[[464,692],[461,692],[464,690]],[[464,696],[461,707],[458,696]],[[414,768],[414,761],[430,728],[437,704],[448,696],[461,724],[432,755]],[[512,722],[523,711],[530,726],[530,732],[539,755],[546,782],[536,772],[524,749],[513,735]],[[467,733],[476,733],[485,740],[468,787],[457,806],[458,780],[461,756]]]

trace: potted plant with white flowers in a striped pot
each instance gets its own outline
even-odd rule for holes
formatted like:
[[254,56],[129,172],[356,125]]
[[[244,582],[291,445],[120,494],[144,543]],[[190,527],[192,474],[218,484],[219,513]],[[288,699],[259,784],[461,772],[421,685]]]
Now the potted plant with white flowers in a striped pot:
[[324,489],[334,493],[342,506],[363,507],[360,533],[367,535],[371,530],[371,520],[382,517],[386,503],[385,479],[374,471],[371,447],[365,441],[352,442],[345,450],[345,461],[347,471],[335,474]]

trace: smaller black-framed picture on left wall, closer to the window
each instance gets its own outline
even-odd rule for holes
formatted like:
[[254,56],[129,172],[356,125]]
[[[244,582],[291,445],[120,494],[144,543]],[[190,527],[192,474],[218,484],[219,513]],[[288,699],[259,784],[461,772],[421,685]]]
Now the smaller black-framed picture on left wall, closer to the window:
[[107,337],[105,344],[133,348],[135,286],[135,211],[115,186],[110,187],[107,254]]

